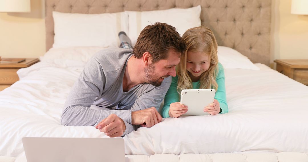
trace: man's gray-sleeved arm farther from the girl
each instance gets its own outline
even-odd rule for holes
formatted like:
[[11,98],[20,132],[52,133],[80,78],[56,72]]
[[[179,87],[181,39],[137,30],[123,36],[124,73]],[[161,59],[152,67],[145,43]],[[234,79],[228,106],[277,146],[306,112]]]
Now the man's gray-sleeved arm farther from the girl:
[[124,135],[134,130],[133,125],[130,124],[130,110],[93,110],[98,107],[92,104],[95,98],[102,94],[104,84],[103,69],[97,60],[91,58],[67,97],[61,116],[61,124],[66,126],[94,126],[110,114],[116,114],[124,120],[126,126]]

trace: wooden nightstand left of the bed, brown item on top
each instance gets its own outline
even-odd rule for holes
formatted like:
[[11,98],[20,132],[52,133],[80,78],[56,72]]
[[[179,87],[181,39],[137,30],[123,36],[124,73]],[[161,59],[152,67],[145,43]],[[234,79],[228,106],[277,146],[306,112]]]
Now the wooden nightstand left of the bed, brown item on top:
[[0,63],[0,91],[19,80],[16,71],[39,62],[39,59],[26,59],[20,63]]

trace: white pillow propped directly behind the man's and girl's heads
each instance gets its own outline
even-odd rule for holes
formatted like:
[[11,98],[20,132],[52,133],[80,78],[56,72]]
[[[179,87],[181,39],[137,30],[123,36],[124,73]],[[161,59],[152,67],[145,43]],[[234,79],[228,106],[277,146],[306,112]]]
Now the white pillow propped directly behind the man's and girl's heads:
[[187,29],[201,26],[201,6],[187,9],[168,9],[156,11],[125,11],[128,13],[128,37],[132,45],[136,44],[137,38],[144,27],[153,25],[155,22],[164,22],[172,25],[182,36]]

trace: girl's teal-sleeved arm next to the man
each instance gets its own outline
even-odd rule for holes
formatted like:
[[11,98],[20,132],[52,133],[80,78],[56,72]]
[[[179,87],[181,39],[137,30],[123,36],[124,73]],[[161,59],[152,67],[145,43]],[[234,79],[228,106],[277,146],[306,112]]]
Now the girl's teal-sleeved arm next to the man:
[[179,102],[179,94],[176,91],[177,78],[178,78],[178,76],[172,77],[171,85],[170,85],[170,87],[167,91],[167,94],[165,95],[164,106],[163,106],[163,109],[161,111],[161,115],[163,116],[163,118],[170,118],[170,116],[169,116],[169,106],[170,106],[170,104],[173,103],[173,102]]

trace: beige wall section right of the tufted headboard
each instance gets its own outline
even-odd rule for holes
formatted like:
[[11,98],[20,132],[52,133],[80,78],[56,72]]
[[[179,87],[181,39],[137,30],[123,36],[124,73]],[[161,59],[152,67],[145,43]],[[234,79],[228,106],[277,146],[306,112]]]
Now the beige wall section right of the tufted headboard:
[[291,0],[272,0],[271,60],[308,59],[308,15],[291,14]]

